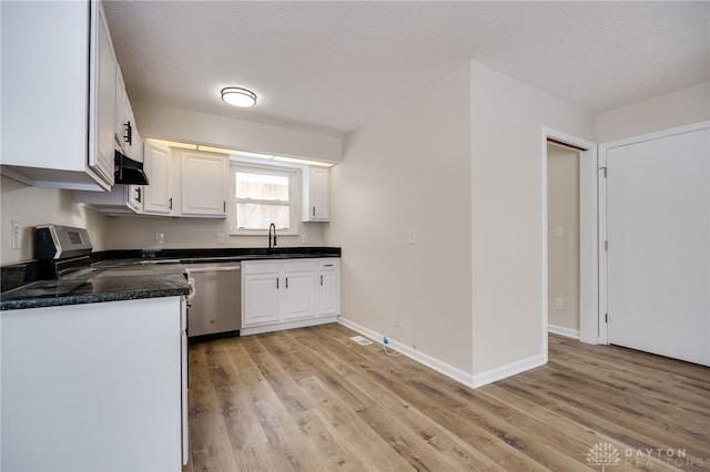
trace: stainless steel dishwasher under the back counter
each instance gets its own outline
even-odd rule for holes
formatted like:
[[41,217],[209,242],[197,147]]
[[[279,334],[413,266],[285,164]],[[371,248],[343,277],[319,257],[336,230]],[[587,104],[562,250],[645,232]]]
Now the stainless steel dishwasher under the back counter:
[[184,264],[194,296],[187,308],[191,338],[237,335],[242,327],[241,263]]

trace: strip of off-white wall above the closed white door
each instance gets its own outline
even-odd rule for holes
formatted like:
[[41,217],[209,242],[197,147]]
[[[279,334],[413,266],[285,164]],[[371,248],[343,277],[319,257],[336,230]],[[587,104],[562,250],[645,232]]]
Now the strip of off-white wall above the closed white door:
[[710,120],[710,82],[597,114],[597,142]]

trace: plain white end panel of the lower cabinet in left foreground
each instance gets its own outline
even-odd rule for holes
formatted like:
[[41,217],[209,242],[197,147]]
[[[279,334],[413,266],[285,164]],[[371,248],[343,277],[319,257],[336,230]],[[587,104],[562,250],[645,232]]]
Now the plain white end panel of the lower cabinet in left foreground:
[[180,472],[183,307],[165,297],[2,311],[0,469]]

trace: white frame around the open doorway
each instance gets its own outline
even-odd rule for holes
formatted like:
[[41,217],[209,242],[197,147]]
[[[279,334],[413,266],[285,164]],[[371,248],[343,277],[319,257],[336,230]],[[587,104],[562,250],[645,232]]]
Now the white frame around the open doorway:
[[579,148],[579,338],[600,342],[599,244],[597,143],[544,126],[542,146],[542,343],[547,353],[548,336],[548,232],[547,232],[547,144],[548,140]]

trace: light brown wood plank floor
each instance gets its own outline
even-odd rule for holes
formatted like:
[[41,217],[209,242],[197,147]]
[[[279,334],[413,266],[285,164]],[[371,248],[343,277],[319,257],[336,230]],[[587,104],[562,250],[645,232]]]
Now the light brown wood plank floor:
[[546,366],[471,390],[354,335],[192,346],[184,471],[710,470],[709,368],[550,336]]

